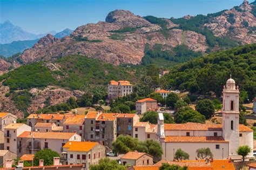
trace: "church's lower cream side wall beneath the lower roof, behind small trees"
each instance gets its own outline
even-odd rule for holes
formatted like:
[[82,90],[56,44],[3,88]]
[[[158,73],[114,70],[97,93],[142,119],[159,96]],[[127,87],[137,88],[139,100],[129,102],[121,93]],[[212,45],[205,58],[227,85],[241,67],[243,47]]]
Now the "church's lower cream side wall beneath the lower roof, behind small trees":
[[[219,149],[216,149],[215,145],[219,145]],[[166,160],[173,160],[173,149],[175,153],[179,148],[188,153],[190,159],[196,159],[197,149],[205,147],[211,149],[214,159],[226,159],[229,155],[228,142],[163,142],[162,147],[164,151],[162,159]]]

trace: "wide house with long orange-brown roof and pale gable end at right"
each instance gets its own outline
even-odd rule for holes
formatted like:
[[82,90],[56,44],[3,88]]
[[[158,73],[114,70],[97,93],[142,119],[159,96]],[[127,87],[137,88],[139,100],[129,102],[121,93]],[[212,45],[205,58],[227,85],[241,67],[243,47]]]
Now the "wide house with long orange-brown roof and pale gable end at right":
[[[64,132],[28,132],[18,135],[18,157],[24,154],[35,154],[44,148],[50,148],[59,154],[62,153],[62,146],[68,141],[81,141],[81,137],[76,133]],[[16,144],[16,146],[17,146]]]

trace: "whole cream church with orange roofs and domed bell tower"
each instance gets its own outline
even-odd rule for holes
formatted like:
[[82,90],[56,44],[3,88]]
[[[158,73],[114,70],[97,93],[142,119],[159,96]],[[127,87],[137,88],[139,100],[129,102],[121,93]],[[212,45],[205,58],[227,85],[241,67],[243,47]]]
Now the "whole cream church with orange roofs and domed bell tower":
[[157,138],[163,147],[163,160],[173,160],[177,149],[181,148],[197,159],[197,149],[209,147],[214,159],[241,160],[237,154],[239,146],[248,145],[253,156],[253,130],[239,124],[239,87],[230,78],[223,86],[222,124],[164,124],[163,113],[158,114]]

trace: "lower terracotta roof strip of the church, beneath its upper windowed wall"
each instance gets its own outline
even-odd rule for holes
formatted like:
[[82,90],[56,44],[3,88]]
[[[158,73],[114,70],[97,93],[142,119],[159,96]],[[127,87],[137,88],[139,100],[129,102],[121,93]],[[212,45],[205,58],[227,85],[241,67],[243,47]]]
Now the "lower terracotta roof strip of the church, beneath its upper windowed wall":
[[228,142],[223,137],[167,136],[165,142]]

